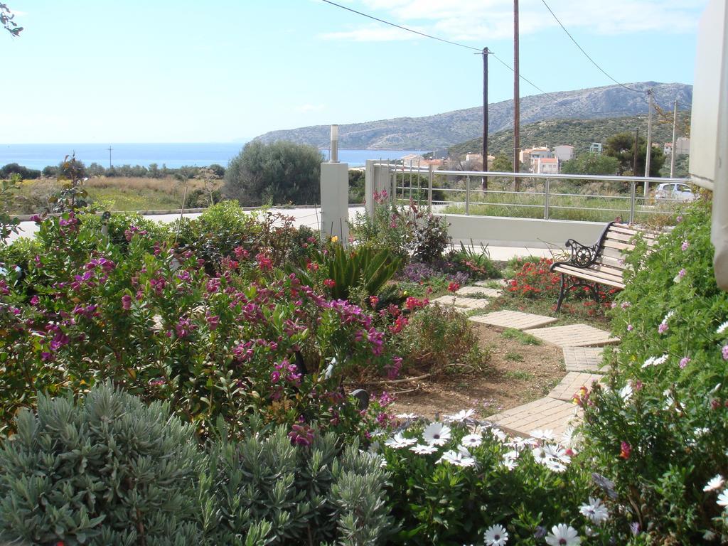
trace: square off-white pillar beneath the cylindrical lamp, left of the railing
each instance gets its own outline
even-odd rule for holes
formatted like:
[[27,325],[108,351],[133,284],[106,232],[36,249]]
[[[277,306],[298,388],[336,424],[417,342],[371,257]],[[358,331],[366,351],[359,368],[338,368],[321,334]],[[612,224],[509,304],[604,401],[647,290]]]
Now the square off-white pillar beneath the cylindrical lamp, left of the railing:
[[321,237],[349,244],[349,164],[321,164]]

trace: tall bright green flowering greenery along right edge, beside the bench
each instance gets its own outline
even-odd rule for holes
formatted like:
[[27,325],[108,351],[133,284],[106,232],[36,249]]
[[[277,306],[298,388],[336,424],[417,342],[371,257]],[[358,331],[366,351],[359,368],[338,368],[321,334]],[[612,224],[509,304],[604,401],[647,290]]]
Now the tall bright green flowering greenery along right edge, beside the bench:
[[[713,276],[709,204],[684,210],[656,250],[626,258],[612,329],[621,339],[606,387],[585,409],[600,472],[616,484],[622,528],[654,543],[703,543],[726,532],[708,480],[728,471],[728,294]],[[719,480],[717,480],[719,481]]]

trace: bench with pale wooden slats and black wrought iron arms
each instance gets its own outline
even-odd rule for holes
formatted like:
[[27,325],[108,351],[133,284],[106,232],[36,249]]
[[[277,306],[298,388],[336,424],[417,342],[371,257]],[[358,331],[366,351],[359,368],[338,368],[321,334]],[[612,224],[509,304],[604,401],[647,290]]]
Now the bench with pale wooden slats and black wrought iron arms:
[[[555,261],[550,267],[552,272],[561,273],[561,291],[558,294],[556,312],[561,309],[563,298],[571,288],[587,288],[596,301],[599,301],[598,285],[612,286],[619,290],[625,288],[625,263],[622,256],[625,251],[634,250],[632,241],[637,234],[641,234],[650,247],[659,235],[658,232],[636,229],[617,220],[606,224],[601,237],[593,245],[582,245],[573,239],[566,241],[566,247],[571,249],[571,258]],[[569,285],[567,277],[572,279]]]

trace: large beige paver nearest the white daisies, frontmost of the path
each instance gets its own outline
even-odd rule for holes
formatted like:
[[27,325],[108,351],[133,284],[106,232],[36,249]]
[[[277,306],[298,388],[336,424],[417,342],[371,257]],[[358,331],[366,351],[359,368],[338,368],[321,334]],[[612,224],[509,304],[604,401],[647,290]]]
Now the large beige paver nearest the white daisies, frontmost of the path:
[[577,422],[581,413],[581,408],[574,403],[545,397],[492,415],[487,419],[498,424],[509,434],[526,438],[537,429],[550,429],[557,435],[563,434],[571,422]]

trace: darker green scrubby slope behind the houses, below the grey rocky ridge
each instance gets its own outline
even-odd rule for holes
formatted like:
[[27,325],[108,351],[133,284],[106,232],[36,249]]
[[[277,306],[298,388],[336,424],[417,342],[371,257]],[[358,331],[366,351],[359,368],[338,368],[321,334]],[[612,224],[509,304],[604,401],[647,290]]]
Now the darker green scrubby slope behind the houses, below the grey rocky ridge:
[[[690,126],[689,112],[678,112],[678,127]],[[619,132],[634,132],[639,129],[641,137],[647,134],[647,116],[622,116],[600,119],[547,119],[521,125],[521,149],[533,146],[548,146],[553,149],[559,144],[574,146],[579,155],[588,151],[593,142],[606,142],[606,139]],[[678,131],[678,135],[681,133]],[[652,142],[672,141],[673,126],[670,123],[655,122],[652,119]],[[483,138],[473,138],[449,149],[453,155],[478,153],[483,148]],[[488,137],[488,153],[507,154],[513,150],[513,129],[502,130]]]

